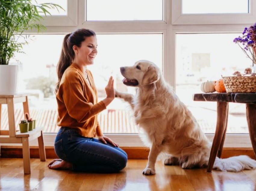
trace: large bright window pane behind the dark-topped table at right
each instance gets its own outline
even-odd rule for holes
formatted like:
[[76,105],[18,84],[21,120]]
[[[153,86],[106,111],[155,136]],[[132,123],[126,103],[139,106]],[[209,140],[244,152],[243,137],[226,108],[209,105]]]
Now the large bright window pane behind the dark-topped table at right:
[[[202,93],[201,83],[243,72],[251,66],[233,39],[240,34],[177,34],[176,94],[199,122],[205,133],[214,133],[217,120],[216,102],[196,102],[192,94]],[[248,133],[245,104],[229,103],[227,133]]]

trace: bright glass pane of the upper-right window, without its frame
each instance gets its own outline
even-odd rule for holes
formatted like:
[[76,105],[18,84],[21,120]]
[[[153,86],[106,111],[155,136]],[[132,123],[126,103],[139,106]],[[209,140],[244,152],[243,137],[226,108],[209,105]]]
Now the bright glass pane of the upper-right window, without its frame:
[[249,13],[249,0],[182,0],[182,13]]

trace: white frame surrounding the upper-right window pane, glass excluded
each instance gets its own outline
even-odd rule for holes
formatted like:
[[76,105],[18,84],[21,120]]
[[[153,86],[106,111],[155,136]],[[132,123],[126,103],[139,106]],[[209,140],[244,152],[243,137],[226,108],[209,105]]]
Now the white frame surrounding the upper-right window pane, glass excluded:
[[256,21],[256,2],[250,0],[247,14],[182,14],[182,0],[172,0],[172,24],[252,24]]

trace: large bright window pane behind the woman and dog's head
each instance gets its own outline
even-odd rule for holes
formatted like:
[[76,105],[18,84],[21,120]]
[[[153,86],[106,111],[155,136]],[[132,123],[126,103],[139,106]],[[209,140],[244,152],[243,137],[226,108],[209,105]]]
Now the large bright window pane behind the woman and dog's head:
[[[16,54],[20,64],[19,92],[30,92],[30,117],[36,119],[44,132],[57,132],[57,102],[53,94],[57,82],[56,65],[61,52],[64,35],[31,35],[28,45],[23,46],[26,54]],[[135,88],[123,85],[121,66],[130,66],[141,59],[147,59],[162,68],[162,34],[114,34],[97,35],[98,55],[92,71],[98,89],[99,100],[104,99],[108,78],[114,77],[114,86],[122,92],[135,93]],[[12,60],[11,62],[14,62]],[[5,105],[2,105],[5,106]],[[22,104],[15,105],[16,127],[23,117]],[[6,107],[2,112],[7,116]],[[2,117],[7,119],[7,117]],[[99,114],[104,133],[136,133],[131,109],[120,99],[114,101]],[[2,125],[3,124],[3,125]],[[8,121],[2,121],[3,129]]]

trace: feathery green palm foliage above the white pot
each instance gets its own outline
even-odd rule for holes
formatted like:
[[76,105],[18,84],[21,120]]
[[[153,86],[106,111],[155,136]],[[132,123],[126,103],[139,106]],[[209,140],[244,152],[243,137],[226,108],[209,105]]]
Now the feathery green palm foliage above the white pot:
[[[15,52],[22,52],[23,44],[27,44],[24,31],[46,29],[39,23],[43,18],[40,14],[46,16],[50,14],[48,9],[54,8],[63,9],[54,3],[34,5],[32,0],[0,0],[0,65],[8,65]],[[23,42],[18,41],[20,37]]]

